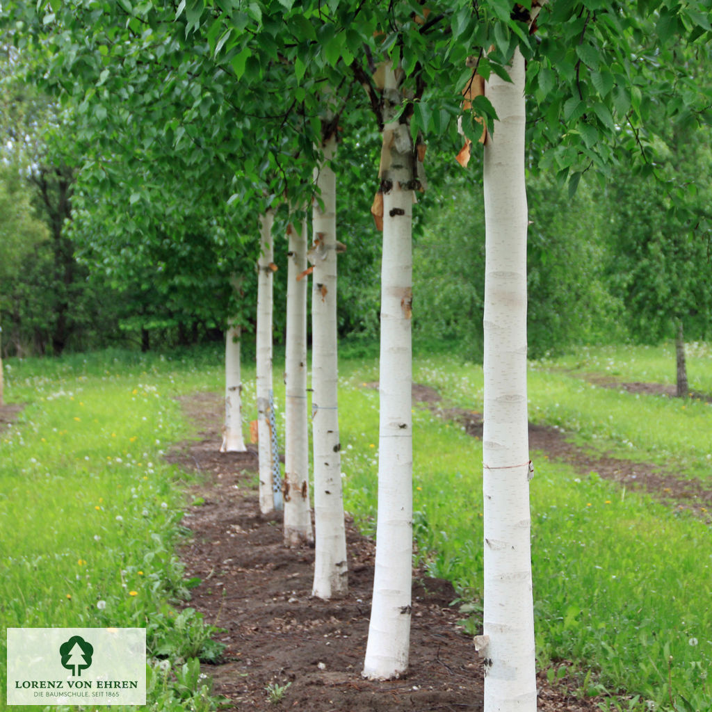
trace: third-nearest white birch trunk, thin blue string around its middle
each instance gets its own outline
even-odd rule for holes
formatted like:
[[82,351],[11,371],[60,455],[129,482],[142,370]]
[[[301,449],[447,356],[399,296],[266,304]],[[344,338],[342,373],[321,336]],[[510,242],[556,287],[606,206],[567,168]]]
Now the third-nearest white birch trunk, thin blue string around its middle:
[[346,530],[341,494],[336,339],[336,177],[330,161],[336,137],[323,145],[315,172],[320,200],[313,208],[312,430],[314,448],[315,562],[312,595],[325,600],[348,590]]

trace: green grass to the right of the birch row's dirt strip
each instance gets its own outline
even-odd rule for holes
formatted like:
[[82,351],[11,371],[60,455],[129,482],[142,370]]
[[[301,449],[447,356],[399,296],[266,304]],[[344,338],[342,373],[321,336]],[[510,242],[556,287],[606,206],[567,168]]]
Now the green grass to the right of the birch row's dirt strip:
[[[633,352],[634,357],[637,352]],[[684,476],[708,478],[712,407],[635,397],[530,370],[530,411],[592,450],[617,445],[639,461],[674,462]],[[700,370],[712,373],[712,363]],[[635,375],[634,370],[629,371]],[[375,529],[378,395],[372,367],[340,395],[347,506]],[[446,407],[482,409],[481,367],[435,356],[417,360],[414,379],[439,389]],[[632,379],[642,380],[637,376]],[[594,437],[595,436],[595,437]],[[706,710],[712,705],[712,543],[702,518],[631,493],[597,473],[533,454],[533,576],[538,659],[572,676],[602,708],[636,705]],[[454,582],[475,634],[482,588],[481,442],[461,426],[414,411],[414,531],[431,575]],[[629,693],[627,698],[617,695]],[[634,696],[638,696],[635,701]]]

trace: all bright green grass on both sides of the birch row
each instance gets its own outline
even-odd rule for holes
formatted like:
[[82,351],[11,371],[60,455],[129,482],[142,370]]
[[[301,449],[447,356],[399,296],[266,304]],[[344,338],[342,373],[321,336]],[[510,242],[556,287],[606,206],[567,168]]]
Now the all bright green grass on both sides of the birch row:
[[[664,367],[674,374],[671,357],[670,347],[626,347],[535,363],[530,414],[592,449],[614,446],[632,459],[667,462],[681,476],[710,481],[712,406],[635,397],[594,387],[565,371],[610,374],[605,367],[612,359],[616,377],[654,381],[661,380]],[[194,652],[204,644],[199,622],[176,624],[169,605],[185,593],[173,551],[182,506],[175,483],[184,475],[163,464],[161,451],[188,432],[170,397],[219,391],[219,365],[219,355],[207,351],[173,358],[110,353],[11,362],[8,394],[30,405],[0,443],[5,625],[120,621],[155,627],[156,648],[177,646],[172,636],[183,636],[176,629],[192,631]],[[693,387],[706,389],[705,379],[712,383],[707,347],[696,347],[689,366],[698,379],[691,378]],[[251,372],[246,365],[248,404]],[[366,384],[377,379],[377,362],[367,350],[353,350],[340,374],[345,504],[372,533],[378,392]],[[449,404],[481,410],[481,367],[437,354],[418,358],[414,377],[439,389]],[[278,409],[282,402],[283,387],[276,383]],[[246,407],[245,418],[253,417]],[[282,422],[278,418],[280,427]],[[419,558],[432,575],[454,581],[468,602],[465,611],[477,612],[481,442],[421,407],[414,409],[414,434]],[[565,661],[582,693],[627,692],[660,710],[673,709],[671,700],[677,710],[710,708],[708,525],[595,473],[578,476],[543,456],[535,456],[535,464],[531,501],[540,665]],[[468,625],[476,627],[476,615]],[[179,690],[188,694],[192,679],[198,686],[195,668],[177,664],[172,670],[155,668],[155,708],[174,704]]]

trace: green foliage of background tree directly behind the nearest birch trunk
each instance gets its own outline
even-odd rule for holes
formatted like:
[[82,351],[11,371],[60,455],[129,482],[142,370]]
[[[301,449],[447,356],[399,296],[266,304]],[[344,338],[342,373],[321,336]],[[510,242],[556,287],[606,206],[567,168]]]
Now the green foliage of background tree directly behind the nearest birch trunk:
[[[607,246],[591,192],[584,188],[569,201],[547,177],[531,177],[528,192],[530,355],[621,337],[622,303],[604,281]],[[474,360],[483,343],[483,211],[479,193],[454,183],[414,248],[416,337],[455,343]]]

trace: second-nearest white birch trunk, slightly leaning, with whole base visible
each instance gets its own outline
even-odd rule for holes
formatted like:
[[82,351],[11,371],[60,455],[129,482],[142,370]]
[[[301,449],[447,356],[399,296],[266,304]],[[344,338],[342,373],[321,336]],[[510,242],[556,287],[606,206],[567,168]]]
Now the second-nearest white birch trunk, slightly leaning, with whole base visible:
[[[389,94],[390,93],[390,94]],[[400,105],[392,69],[385,104]],[[391,114],[392,115],[392,114]],[[371,619],[363,675],[399,677],[408,669],[412,542],[412,211],[414,148],[409,127],[384,124],[383,258],[381,268],[378,518]],[[383,164],[382,164],[383,166]]]

